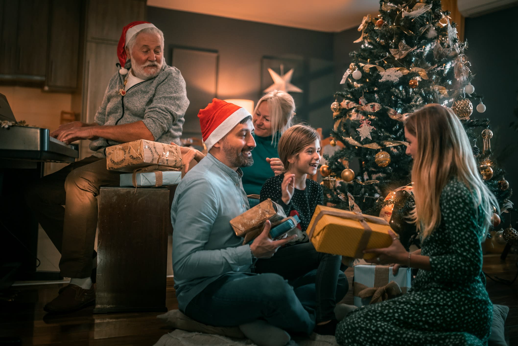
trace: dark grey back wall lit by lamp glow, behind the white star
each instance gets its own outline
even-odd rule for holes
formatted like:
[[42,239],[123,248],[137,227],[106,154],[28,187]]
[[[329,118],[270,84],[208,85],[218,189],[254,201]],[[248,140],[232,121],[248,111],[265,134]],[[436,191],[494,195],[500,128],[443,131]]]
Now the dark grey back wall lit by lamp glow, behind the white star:
[[[297,117],[313,127],[330,126],[329,106],[335,92],[333,33],[152,6],[148,6],[147,18],[164,32],[167,63],[171,62],[175,46],[218,51],[217,97],[220,99],[244,98],[257,102],[263,95],[263,56],[300,59],[301,67],[295,70],[292,80],[304,90],[304,96],[292,94],[297,103]],[[198,109],[190,107],[186,122],[197,122],[197,113]]]

